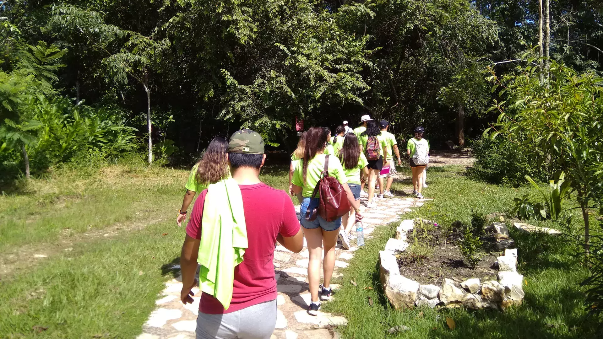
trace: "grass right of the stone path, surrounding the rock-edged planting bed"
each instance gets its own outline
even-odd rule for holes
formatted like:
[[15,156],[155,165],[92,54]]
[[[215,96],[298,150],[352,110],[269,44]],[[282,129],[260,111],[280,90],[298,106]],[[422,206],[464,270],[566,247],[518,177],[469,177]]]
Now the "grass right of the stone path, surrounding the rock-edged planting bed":
[[[431,168],[429,188],[432,197],[420,209],[405,218],[426,218],[444,227],[455,220],[469,223],[473,211],[490,214],[508,211],[514,197],[531,192],[530,188],[505,188],[469,180],[461,168]],[[404,184],[402,184],[404,185]],[[402,189],[403,186],[395,185]],[[552,226],[552,223],[538,223]],[[379,282],[379,250],[393,236],[397,224],[374,232],[374,239],[360,249],[344,270],[343,286],[327,311],[348,318],[348,326],[339,328],[343,338],[588,338],[594,323],[586,318],[584,294],[576,285],[587,274],[572,256],[572,244],[549,235],[523,235],[511,230],[519,249],[519,271],[525,276],[523,305],[507,311],[419,308],[396,311],[387,302]],[[358,286],[350,283],[354,280]],[[371,289],[365,289],[371,287]],[[370,306],[368,298],[374,303]],[[455,320],[450,330],[446,317]],[[408,330],[387,334],[394,326]]]

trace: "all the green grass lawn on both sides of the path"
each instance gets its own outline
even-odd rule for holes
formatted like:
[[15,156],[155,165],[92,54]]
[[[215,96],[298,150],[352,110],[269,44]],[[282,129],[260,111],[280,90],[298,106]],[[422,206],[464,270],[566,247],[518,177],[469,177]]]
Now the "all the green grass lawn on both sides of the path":
[[[402,171],[406,171],[402,169]],[[135,338],[155,308],[167,267],[177,261],[185,231],[175,214],[188,171],[116,165],[62,171],[32,180],[18,194],[0,197],[0,338]],[[261,179],[285,189],[287,169],[269,166]],[[460,168],[432,168],[426,197],[434,200],[409,218],[450,224],[469,221],[471,209],[506,211],[529,192],[466,179]],[[409,182],[394,190],[408,191]],[[295,200],[294,200],[295,201]],[[190,208],[189,208],[190,211]],[[116,235],[105,230],[122,228]],[[579,338],[589,335],[583,294],[586,271],[561,238],[514,234],[520,271],[526,276],[522,307],[506,312],[463,309],[394,311],[379,290],[377,257],[393,227],[381,227],[346,268],[344,284],[328,311],[346,315],[344,338]],[[98,234],[86,238],[84,235]],[[167,233],[167,234],[165,234]],[[63,247],[69,246],[71,251]],[[34,253],[48,258],[32,259]],[[11,255],[25,253],[19,261]],[[353,287],[349,280],[358,282]],[[374,290],[363,290],[373,287]],[[368,297],[374,305],[368,305]],[[422,313],[421,313],[422,312]],[[444,325],[456,321],[455,331]],[[410,329],[387,335],[387,329]],[[37,333],[34,326],[48,328]]]

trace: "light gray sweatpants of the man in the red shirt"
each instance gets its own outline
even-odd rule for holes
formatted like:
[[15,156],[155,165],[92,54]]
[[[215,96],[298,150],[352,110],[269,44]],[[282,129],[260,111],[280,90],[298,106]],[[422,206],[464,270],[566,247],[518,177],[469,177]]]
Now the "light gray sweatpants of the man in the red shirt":
[[226,314],[199,313],[197,339],[269,339],[276,326],[276,299]]

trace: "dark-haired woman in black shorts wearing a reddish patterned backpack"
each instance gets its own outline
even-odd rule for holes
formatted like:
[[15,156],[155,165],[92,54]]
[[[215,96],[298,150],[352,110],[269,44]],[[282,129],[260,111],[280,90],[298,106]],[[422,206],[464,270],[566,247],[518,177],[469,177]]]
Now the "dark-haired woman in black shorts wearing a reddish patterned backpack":
[[[367,208],[373,208],[377,206],[375,203],[373,203],[375,183],[377,182],[377,177],[379,177],[380,171],[382,170],[383,166],[385,166],[385,163],[387,163],[387,143],[383,138],[380,138],[380,136],[381,130],[379,129],[379,126],[377,126],[377,122],[375,122],[374,120],[370,120],[367,122],[367,130],[362,132],[360,135],[365,155],[367,154],[366,152],[369,147],[369,142],[371,142],[371,144],[376,144],[376,146],[379,147],[379,158],[368,160]],[[379,195],[380,197],[383,197],[383,185],[379,186]]]

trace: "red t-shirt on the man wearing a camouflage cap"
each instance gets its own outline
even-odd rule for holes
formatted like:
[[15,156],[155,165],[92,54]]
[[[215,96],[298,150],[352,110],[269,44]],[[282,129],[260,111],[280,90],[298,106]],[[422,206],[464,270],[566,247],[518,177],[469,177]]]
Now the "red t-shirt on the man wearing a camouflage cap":
[[[235,267],[232,301],[227,311],[209,294],[201,294],[199,311],[205,314],[223,314],[238,311],[258,303],[276,299],[274,280],[274,245],[276,236],[294,236],[300,230],[291,198],[280,189],[265,183],[239,185],[243,198],[248,249],[243,262]],[[201,192],[186,226],[186,234],[201,239],[201,220],[207,189]]]

